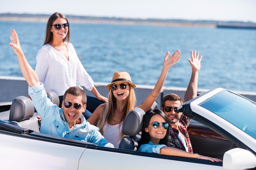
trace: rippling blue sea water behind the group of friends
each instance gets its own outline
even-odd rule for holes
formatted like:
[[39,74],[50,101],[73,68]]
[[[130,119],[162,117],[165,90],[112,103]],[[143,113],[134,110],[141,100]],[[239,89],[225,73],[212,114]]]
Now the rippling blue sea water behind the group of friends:
[[[0,76],[22,77],[9,46],[11,29],[35,68],[45,27],[43,22],[0,22]],[[113,72],[126,71],[135,84],[155,85],[166,52],[179,49],[182,57],[170,68],[164,86],[187,87],[187,58],[197,50],[203,56],[198,88],[256,92],[255,29],[70,23],[70,42],[95,82],[109,83]]]

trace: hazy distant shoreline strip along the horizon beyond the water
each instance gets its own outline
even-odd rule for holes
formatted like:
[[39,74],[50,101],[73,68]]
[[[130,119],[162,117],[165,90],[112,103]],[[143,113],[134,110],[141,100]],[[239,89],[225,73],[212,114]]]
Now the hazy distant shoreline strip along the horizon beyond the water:
[[[116,24],[116,25],[153,25],[176,27],[209,27],[209,28],[253,28],[252,22],[219,22],[219,21],[192,21],[192,20],[160,20],[160,19],[129,19],[110,17],[85,17],[66,15],[69,22],[81,24]],[[35,14],[0,14],[0,21],[17,22],[47,22],[49,15]]]

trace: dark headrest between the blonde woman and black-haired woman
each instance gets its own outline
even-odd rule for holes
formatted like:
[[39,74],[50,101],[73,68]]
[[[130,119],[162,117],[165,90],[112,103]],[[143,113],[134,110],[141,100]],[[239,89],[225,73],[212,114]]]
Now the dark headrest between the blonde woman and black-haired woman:
[[142,129],[144,114],[145,111],[139,107],[132,109],[124,120],[122,133],[124,133],[124,135],[136,135],[139,133]]

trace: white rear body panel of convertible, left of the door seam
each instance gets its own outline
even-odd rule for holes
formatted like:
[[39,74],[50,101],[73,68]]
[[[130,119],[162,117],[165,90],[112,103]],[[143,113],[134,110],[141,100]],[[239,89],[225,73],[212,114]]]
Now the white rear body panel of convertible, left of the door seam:
[[83,150],[54,140],[0,131],[2,170],[77,170]]

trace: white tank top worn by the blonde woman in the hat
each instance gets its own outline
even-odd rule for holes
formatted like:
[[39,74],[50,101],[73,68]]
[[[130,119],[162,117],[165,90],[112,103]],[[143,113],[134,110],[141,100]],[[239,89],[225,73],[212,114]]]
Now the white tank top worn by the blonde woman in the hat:
[[108,122],[103,126],[103,136],[107,141],[114,145],[115,148],[118,148],[120,142],[120,133],[123,128],[123,121],[120,124],[109,125]]

